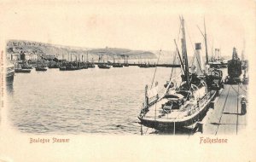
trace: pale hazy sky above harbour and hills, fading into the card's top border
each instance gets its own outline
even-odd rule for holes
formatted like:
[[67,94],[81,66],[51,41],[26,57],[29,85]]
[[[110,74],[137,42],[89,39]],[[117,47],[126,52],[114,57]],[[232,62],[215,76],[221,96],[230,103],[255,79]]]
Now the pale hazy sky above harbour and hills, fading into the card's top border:
[[232,47],[246,50],[255,36],[253,1],[2,1],[1,40],[25,39],[90,48],[174,50],[173,39],[183,15],[189,50],[203,42],[203,19],[208,46],[231,55]]

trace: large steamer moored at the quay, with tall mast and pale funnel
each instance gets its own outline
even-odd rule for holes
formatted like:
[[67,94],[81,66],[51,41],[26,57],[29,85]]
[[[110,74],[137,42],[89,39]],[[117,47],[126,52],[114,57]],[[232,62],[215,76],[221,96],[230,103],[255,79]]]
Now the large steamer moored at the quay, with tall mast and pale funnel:
[[[176,42],[175,44],[183,70],[182,83],[177,86],[171,78],[165,86],[164,95],[161,96],[157,92],[157,86],[148,90],[146,85],[145,101],[138,115],[141,124],[155,130],[175,130],[201,120],[207,113],[210,102],[217,94],[222,80],[221,72],[213,71],[208,66],[205,66],[204,69],[201,43],[195,43],[195,64],[192,65],[189,72],[183,17],[180,18],[180,21],[182,26],[182,57]],[[205,32],[204,38],[207,43],[206,36]]]

